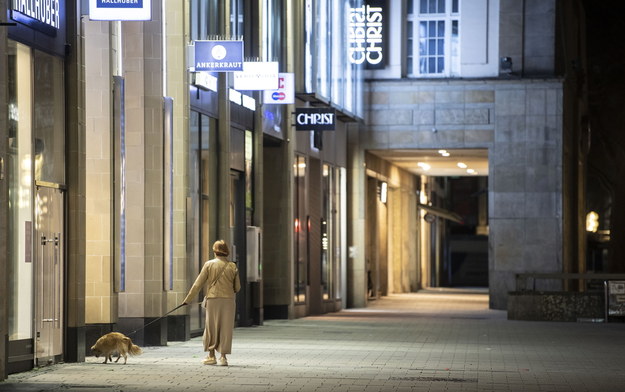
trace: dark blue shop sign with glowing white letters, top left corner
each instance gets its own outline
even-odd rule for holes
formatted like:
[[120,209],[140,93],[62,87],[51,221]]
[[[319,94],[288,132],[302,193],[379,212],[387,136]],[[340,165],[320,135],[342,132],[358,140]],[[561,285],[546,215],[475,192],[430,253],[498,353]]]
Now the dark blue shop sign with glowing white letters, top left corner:
[[55,36],[61,27],[61,4],[59,0],[13,0],[11,19],[42,33]]

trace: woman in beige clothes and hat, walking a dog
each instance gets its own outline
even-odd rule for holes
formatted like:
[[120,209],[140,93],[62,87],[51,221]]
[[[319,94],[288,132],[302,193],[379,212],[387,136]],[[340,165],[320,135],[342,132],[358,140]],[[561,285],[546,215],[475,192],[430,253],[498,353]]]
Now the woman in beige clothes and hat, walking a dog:
[[[215,241],[213,252],[215,258],[204,263],[182,305],[193,302],[200,289],[204,289],[202,306],[206,309],[206,322],[203,341],[208,356],[203,362],[205,365],[228,366],[226,355],[232,349],[235,294],[241,289],[241,282],[236,264],[228,261],[228,245],[223,240]],[[221,354],[219,361],[215,351]]]

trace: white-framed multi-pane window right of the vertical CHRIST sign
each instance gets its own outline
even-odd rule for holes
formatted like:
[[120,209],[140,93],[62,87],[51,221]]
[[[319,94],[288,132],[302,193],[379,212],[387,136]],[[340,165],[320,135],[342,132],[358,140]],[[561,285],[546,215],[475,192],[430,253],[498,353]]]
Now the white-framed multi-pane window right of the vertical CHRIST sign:
[[450,77],[460,73],[460,0],[409,0],[406,73]]

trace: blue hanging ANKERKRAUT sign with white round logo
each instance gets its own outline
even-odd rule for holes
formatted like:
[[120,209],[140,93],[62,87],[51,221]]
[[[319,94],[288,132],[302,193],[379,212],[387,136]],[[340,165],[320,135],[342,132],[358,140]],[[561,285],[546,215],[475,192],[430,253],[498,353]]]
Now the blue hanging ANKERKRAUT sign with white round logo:
[[243,71],[243,41],[195,41],[195,72]]

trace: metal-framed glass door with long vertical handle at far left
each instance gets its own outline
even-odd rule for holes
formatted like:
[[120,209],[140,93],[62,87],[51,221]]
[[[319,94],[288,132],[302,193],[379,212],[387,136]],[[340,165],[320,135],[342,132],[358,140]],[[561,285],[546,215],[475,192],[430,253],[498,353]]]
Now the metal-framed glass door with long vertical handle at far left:
[[35,197],[35,365],[58,362],[63,347],[63,191],[37,186]]

